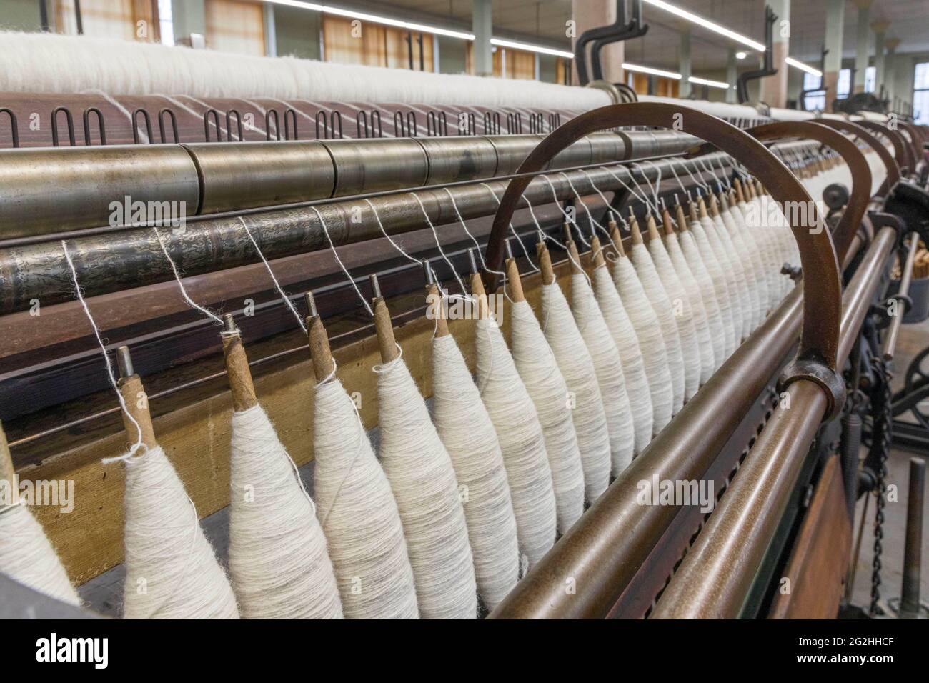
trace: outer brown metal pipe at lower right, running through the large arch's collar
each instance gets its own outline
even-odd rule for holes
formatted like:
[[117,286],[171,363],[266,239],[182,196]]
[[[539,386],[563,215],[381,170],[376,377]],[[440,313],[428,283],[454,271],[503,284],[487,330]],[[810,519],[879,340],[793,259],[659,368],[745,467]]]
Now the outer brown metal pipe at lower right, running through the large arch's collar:
[[[895,242],[892,228],[878,232],[848,283],[840,327],[840,367],[857,339]],[[765,425],[726,495],[661,594],[652,612],[654,618],[739,616],[826,413],[826,395],[814,382],[792,382],[786,399]]]

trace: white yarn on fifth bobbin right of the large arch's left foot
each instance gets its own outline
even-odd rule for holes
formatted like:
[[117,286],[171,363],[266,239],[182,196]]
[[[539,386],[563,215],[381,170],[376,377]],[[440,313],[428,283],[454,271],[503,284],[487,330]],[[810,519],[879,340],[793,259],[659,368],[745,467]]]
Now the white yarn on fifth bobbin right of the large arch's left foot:
[[671,411],[674,407],[671,366],[661,336],[661,325],[658,316],[655,315],[655,309],[648,303],[648,296],[642,289],[633,264],[626,256],[618,256],[613,264],[613,283],[638,338],[645,374],[648,376],[648,390],[651,393],[652,430],[654,434],[658,434],[671,422]]

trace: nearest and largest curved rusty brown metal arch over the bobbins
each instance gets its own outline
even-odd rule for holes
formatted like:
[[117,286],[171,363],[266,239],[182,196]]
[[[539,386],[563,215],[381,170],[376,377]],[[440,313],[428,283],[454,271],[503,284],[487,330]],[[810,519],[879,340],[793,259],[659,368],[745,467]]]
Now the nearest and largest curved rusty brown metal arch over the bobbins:
[[[831,235],[829,230],[825,230],[825,223],[816,204],[801,182],[761,142],[736,126],[715,116],[675,104],[613,104],[586,112],[559,127],[530,152],[520,164],[517,174],[541,171],[559,151],[584,136],[606,128],[631,125],[671,128],[707,140],[738,159],[754,176],[761,178],[781,206],[809,207],[809,211],[805,212],[806,224],[791,226],[807,282],[816,282],[816,286],[808,287],[804,292],[804,322],[797,360],[825,366],[829,374],[835,374],[842,314],[842,285]],[[529,176],[522,176],[510,181],[493,218],[485,257],[488,269],[484,275],[488,292],[496,290],[497,276],[493,271],[503,267],[506,228],[530,179]],[[822,386],[822,382],[819,384]],[[826,386],[823,388],[827,394],[831,394],[833,404],[839,403],[841,406],[834,387],[832,390]]]

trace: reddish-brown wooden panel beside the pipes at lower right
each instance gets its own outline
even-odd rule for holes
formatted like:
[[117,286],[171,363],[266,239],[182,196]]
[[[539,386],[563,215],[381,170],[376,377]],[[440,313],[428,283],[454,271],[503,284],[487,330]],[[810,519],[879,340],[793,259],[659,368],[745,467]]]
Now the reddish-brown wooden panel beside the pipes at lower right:
[[838,456],[832,455],[823,467],[784,571],[790,593],[777,595],[769,617],[834,619],[844,593],[851,544],[842,467]]

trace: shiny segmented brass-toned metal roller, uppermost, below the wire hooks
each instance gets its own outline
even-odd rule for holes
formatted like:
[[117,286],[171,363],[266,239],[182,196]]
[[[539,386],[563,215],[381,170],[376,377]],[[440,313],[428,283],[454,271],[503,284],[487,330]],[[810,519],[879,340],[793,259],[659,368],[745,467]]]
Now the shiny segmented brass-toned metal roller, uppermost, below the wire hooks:
[[[191,217],[504,176],[541,139],[465,136],[2,150],[0,237],[112,225],[111,204],[123,204],[126,197],[130,203],[183,202]],[[655,147],[648,133],[601,133],[579,140],[551,167],[614,162],[634,154],[630,146],[639,143],[645,150]],[[693,143],[677,134],[668,144],[679,153]],[[49,182],[56,184],[55,202],[48,201]],[[130,217],[121,222],[128,224]]]

